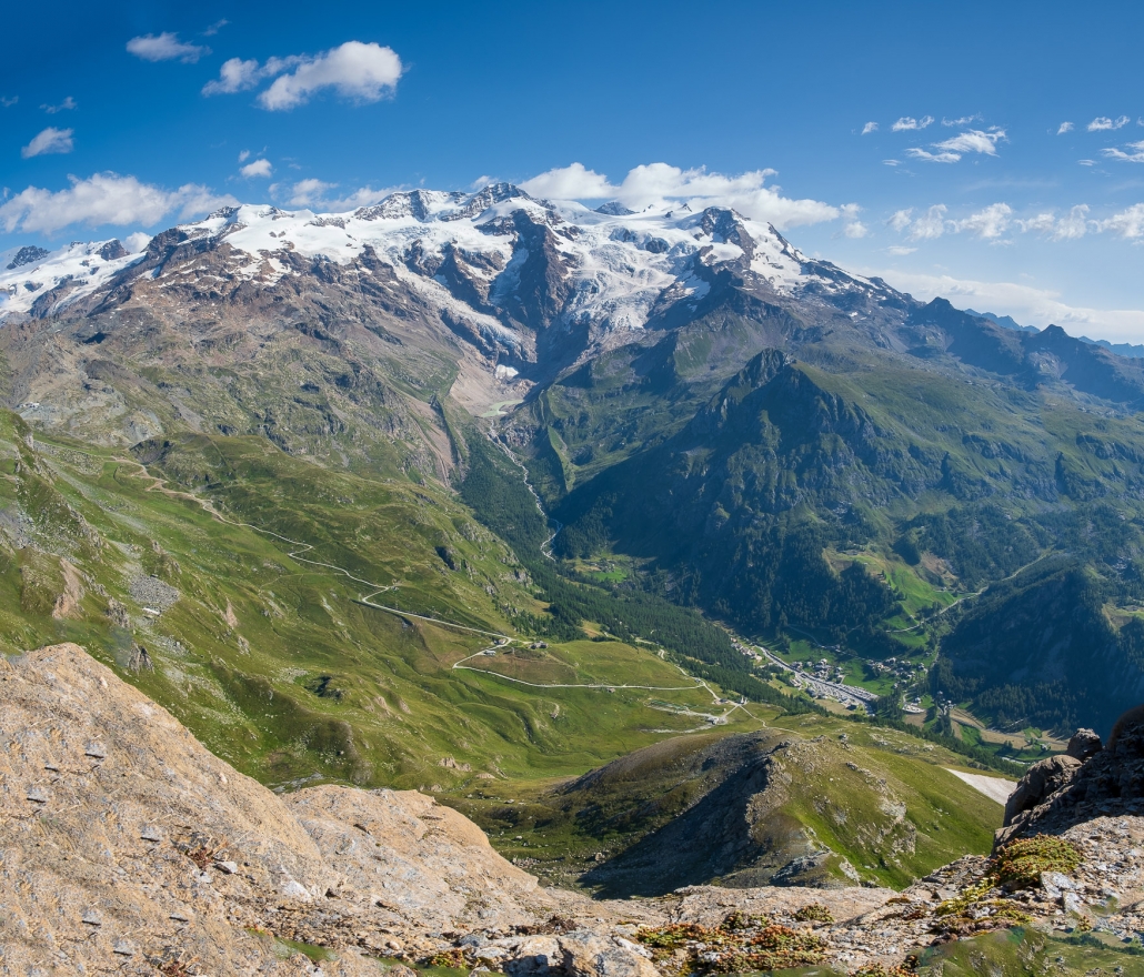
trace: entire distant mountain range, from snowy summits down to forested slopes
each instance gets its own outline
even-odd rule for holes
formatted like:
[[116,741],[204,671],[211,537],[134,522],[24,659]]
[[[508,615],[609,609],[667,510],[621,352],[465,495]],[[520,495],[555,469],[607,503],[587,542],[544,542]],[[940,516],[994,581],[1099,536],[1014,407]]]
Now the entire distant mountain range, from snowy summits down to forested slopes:
[[[1099,724],[1144,694],[1125,636],[1144,603],[1142,347],[922,303],[730,209],[591,211],[505,183],[3,257],[0,390],[42,429],[255,435],[446,486],[478,463],[466,431],[492,429],[569,565],[626,561],[769,640],[927,668],[947,643],[916,691],[1003,699],[1014,722]],[[1028,599],[1104,602],[1115,667],[1082,667],[1077,632],[959,685],[958,628],[979,621],[922,619],[1050,553],[1091,588],[1042,574]],[[1066,688],[1051,662],[1073,659]],[[1012,706],[1014,689],[1041,691]]]

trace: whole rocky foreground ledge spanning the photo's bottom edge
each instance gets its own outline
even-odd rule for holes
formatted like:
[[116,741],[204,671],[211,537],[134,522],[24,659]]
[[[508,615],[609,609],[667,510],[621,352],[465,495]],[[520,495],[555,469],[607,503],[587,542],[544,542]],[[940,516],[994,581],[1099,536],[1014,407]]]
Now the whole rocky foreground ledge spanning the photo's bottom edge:
[[[1136,737],[1120,730],[1028,825],[1078,784],[1136,789],[1099,760],[1137,763]],[[73,644],[0,659],[0,975],[356,977],[396,961],[510,977],[852,974],[1014,924],[1144,931],[1144,818],[1129,813],[1048,847],[1011,840],[901,893],[689,887],[606,901],[541,888],[416,792],[278,796]]]

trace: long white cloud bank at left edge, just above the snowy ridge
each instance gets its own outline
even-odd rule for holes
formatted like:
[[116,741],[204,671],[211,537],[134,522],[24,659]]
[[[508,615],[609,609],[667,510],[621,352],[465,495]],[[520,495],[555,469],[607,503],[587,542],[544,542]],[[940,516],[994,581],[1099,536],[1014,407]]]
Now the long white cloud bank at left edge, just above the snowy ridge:
[[164,190],[134,176],[97,173],[87,180],[70,176],[71,186],[55,192],[29,186],[0,205],[0,227],[13,231],[53,233],[71,224],[142,224],[149,227],[175,213],[180,220],[237,204],[206,186],[188,183]]

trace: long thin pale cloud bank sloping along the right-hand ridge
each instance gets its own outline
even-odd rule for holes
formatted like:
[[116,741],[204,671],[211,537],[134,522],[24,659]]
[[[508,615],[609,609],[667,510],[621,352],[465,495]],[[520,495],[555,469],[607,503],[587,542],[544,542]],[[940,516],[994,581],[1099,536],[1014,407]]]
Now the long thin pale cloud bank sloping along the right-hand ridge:
[[975,281],[948,275],[924,275],[898,269],[861,269],[863,273],[884,278],[893,287],[917,299],[948,299],[954,305],[986,308],[1012,316],[1018,323],[1043,327],[1056,323],[1073,335],[1087,334],[1110,341],[1141,342],[1144,339],[1144,311],[1137,309],[1088,309],[1068,305],[1060,294],[1011,281]]

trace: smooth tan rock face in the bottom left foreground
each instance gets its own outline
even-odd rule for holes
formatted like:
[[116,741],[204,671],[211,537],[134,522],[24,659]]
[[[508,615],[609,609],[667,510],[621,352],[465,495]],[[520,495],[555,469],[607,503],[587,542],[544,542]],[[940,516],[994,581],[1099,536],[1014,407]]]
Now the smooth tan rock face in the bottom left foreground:
[[192,959],[209,974],[296,972],[249,931],[264,930],[340,947],[327,974],[375,974],[353,947],[415,955],[436,948],[430,932],[556,908],[432,799],[336,786],[278,797],[77,645],[2,661],[0,680],[9,972]]

